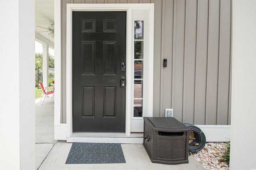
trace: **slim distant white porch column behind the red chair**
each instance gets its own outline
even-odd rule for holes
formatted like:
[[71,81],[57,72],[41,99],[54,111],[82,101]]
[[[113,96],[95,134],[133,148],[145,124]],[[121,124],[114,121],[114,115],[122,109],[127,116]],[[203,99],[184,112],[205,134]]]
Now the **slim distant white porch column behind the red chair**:
[[43,86],[48,87],[49,82],[49,45],[43,44]]

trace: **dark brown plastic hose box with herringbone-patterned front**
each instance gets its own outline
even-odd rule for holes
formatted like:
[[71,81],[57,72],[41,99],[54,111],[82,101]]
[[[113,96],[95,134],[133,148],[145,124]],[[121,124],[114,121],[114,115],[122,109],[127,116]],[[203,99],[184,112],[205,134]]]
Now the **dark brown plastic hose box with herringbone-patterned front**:
[[190,129],[173,117],[144,117],[143,145],[151,162],[188,163]]

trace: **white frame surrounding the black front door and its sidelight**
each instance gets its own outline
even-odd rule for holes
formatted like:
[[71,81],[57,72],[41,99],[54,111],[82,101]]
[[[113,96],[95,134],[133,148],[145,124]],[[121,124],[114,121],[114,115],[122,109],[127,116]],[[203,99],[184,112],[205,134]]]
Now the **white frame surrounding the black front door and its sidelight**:
[[[117,141],[120,143],[129,142],[129,143],[141,143],[142,140],[131,140],[127,138],[132,137],[131,135],[131,119],[133,114],[133,70],[132,67],[126,67],[126,130],[125,134],[112,134],[112,133],[72,133],[72,12],[73,11],[126,11],[126,65],[133,65],[133,35],[132,28],[134,24],[132,22],[132,12],[134,11],[148,11],[148,63],[145,65],[144,70],[147,71],[147,85],[144,87],[144,92],[147,95],[147,99],[144,107],[146,108],[146,114],[144,116],[152,117],[153,116],[153,55],[154,55],[154,4],[67,4],[67,50],[66,50],[66,127],[67,127],[67,142],[97,142],[97,139],[102,142],[104,137],[104,142],[113,142]],[[133,63],[132,63],[133,62]],[[124,140],[122,140],[124,139]]]

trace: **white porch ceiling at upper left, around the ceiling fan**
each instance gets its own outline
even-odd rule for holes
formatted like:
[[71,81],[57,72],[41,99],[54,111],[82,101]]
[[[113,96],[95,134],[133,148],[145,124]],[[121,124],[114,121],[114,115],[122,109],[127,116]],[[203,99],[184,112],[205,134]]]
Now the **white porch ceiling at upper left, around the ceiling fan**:
[[54,37],[49,36],[49,31],[44,29],[50,26],[50,21],[54,22],[54,0],[35,0],[35,32],[40,32],[35,33],[36,41],[54,49]]

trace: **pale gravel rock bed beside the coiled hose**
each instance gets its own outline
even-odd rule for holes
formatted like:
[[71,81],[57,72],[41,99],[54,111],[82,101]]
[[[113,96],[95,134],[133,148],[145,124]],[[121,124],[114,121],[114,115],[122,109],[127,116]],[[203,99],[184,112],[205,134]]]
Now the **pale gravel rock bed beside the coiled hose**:
[[207,170],[229,170],[229,165],[222,158],[226,150],[224,142],[207,142],[204,149],[192,155]]

